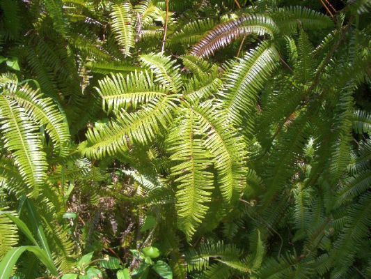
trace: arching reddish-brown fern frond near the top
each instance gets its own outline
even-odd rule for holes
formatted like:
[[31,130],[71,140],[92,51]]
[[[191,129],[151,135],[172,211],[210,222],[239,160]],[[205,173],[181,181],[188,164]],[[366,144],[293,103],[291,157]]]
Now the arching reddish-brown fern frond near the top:
[[250,34],[257,34],[258,36],[268,34],[273,37],[277,31],[276,24],[270,17],[244,15],[237,20],[217,25],[192,47],[190,54],[199,57],[210,56],[216,50],[226,47],[237,38]]

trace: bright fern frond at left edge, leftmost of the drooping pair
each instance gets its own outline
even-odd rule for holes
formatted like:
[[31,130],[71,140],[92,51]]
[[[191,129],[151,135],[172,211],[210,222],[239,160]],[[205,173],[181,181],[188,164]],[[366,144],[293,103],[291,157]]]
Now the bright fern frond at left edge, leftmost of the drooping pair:
[[46,156],[36,127],[24,109],[5,96],[0,96],[0,118],[5,147],[13,153],[19,173],[35,194],[47,177]]

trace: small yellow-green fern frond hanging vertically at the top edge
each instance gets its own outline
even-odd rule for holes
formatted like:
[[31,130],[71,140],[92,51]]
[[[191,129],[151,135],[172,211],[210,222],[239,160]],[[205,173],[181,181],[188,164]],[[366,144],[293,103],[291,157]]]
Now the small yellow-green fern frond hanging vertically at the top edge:
[[132,4],[123,3],[113,5],[111,12],[112,31],[118,44],[123,47],[123,54],[130,56],[130,49],[134,47],[134,27],[132,26]]

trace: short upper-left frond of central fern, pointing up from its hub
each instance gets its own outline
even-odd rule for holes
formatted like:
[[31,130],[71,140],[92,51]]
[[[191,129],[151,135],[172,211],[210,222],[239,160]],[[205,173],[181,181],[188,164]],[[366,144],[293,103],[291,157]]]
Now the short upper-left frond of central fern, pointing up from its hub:
[[143,54],[140,56],[141,63],[155,73],[156,80],[160,84],[168,87],[169,91],[177,93],[182,86],[180,79],[179,65],[175,66],[175,61],[170,56],[161,53]]

